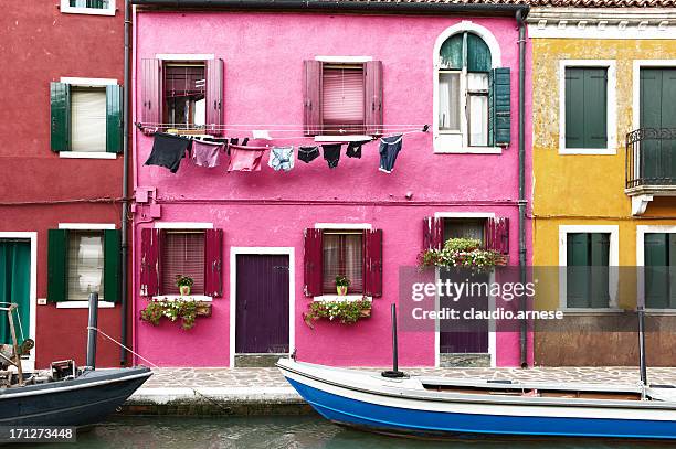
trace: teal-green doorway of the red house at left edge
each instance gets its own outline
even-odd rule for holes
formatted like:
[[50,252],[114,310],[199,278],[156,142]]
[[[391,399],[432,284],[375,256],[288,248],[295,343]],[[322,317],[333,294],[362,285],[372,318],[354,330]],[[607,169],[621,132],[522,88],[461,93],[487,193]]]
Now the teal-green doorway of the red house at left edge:
[[[29,335],[31,289],[31,244],[21,239],[0,239],[0,301],[19,306],[14,328],[19,344]],[[7,304],[2,304],[7,306]],[[23,332],[22,332],[23,331]],[[11,343],[7,312],[0,313],[0,343]]]

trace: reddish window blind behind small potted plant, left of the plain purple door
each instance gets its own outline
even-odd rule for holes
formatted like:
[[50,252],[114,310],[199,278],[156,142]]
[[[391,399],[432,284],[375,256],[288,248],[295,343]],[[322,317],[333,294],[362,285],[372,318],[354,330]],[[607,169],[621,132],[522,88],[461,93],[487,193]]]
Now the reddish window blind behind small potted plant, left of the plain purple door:
[[189,276],[191,295],[204,295],[204,232],[167,231],[161,254],[161,295],[179,295],[176,277]]

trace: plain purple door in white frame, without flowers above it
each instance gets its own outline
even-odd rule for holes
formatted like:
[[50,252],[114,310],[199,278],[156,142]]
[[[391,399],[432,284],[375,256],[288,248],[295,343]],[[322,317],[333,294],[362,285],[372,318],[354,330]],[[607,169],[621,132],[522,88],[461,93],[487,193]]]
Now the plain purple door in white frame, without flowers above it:
[[288,352],[288,256],[236,256],[237,354]]

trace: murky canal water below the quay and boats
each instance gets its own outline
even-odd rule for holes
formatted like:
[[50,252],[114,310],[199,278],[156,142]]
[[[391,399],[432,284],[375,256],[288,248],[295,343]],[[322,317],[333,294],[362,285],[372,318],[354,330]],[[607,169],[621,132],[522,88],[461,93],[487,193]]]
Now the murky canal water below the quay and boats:
[[[637,449],[668,443],[616,440],[453,439],[416,440],[379,436],[332,425],[316,416],[295,417],[119,417],[78,435],[77,443],[45,449]],[[21,446],[21,445],[20,445]],[[36,446],[32,446],[36,447]]]

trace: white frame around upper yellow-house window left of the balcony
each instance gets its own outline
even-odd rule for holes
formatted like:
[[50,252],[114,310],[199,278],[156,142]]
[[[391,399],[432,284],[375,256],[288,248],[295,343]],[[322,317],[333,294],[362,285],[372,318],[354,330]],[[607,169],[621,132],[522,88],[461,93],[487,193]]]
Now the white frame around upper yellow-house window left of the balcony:
[[[606,70],[605,85],[605,148],[566,148],[566,70],[599,67]],[[615,60],[559,61],[559,154],[616,154],[617,153],[617,64]]]

